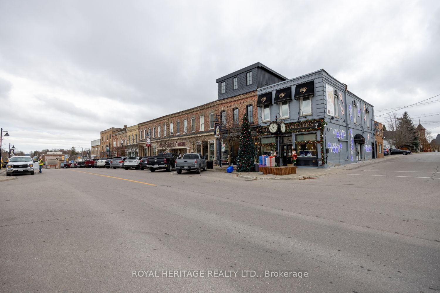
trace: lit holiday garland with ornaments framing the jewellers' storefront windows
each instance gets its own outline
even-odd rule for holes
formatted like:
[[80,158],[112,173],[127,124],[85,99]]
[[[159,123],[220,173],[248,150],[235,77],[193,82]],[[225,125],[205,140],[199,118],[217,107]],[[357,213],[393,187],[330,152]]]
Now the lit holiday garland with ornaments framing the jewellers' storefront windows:
[[[320,130],[319,131],[319,141],[295,141],[295,145],[304,144],[304,143],[306,143],[306,144],[319,143],[321,145],[321,160],[323,161],[323,164],[325,164],[326,160],[325,160],[325,154],[324,154],[324,130],[326,129],[327,123],[322,118],[301,121],[301,123],[304,123],[304,122],[308,122],[308,123],[321,122],[321,127],[319,127],[319,128],[290,129],[290,128],[293,128],[293,127],[290,127],[291,125],[297,124],[297,122],[290,122],[290,123],[286,123],[286,132],[284,132],[284,133],[286,134],[286,133],[298,133],[298,132],[312,132],[312,131]],[[255,142],[255,145],[257,145],[257,148],[258,148],[258,151],[257,151],[258,156],[261,155],[261,146],[276,145],[273,142],[268,143],[268,144],[260,143],[260,137],[266,136],[266,135],[271,135],[269,132],[262,132],[263,127],[257,127],[257,139]]]

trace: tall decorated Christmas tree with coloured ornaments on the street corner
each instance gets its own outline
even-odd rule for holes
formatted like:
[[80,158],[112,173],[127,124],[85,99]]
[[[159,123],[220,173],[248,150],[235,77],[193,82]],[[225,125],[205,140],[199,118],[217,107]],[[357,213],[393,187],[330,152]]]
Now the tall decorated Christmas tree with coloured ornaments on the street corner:
[[237,171],[252,172],[254,170],[255,147],[250,136],[250,126],[247,114],[243,116],[242,134],[240,136],[240,146],[237,155]]

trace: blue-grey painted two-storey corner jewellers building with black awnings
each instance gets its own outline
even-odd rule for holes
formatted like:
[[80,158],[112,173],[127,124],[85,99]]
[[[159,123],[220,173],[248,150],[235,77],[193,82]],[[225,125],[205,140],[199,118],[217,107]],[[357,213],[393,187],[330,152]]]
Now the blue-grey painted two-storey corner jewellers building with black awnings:
[[373,106],[321,69],[257,90],[256,145],[279,165],[326,168],[373,159]]

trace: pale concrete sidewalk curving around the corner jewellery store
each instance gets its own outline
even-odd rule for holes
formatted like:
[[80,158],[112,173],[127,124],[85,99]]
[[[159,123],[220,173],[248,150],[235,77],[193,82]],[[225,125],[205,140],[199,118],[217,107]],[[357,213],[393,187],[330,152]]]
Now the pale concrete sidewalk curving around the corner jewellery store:
[[[414,156],[415,154],[411,154]],[[258,172],[236,172],[235,170],[231,173],[231,175],[235,175],[240,178],[248,179],[248,180],[303,180],[308,178],[315,178],[319,176],[325,176],[328,174],[334,174],[336,172],[340,172],[343,170],[353,170],[357,169],[362,166],[367,166],[371,164],[381,163],[388,159],[391,159],[393,156],[385,156],[381,159],[372,159],[368,161],[358,162],[358,163],[351,163],[341,166],[335,166],[327,169],[319,169],[319,168],[297,168],[297,174],[290,174],[290,175],[264,175],[264,174],[258,174]],[[397,157],[397,156],[394,156]],[[235,168],[235,167],[234,167]],[[214,169],[211,169],[209,171],[216,171],[216,172],[225,172],[224,170],[218,170],[218,166],[214,166]]]

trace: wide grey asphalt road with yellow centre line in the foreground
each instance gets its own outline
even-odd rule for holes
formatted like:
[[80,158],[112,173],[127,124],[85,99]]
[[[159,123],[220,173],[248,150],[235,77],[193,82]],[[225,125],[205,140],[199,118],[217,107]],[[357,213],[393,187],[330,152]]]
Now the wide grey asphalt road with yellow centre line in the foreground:
[[0,182],[0,291],[439,292],[440,153],[376,162],[298,181],[21,174]]

